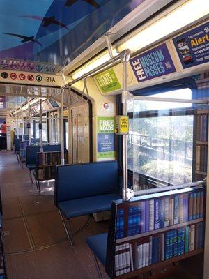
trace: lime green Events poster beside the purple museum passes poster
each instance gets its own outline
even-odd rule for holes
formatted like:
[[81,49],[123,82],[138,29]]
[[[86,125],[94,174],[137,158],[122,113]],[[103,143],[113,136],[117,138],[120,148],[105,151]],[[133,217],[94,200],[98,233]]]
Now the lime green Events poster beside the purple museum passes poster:
[[114,69],[105,70],[105,72],[96,75],[95,80],[102,93],[109,93],[121,89],[121,84],[118,82]]

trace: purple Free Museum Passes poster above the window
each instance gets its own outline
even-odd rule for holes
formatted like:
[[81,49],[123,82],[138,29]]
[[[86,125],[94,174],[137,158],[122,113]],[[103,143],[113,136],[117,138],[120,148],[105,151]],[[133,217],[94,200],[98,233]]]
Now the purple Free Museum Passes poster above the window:
[[176,72],[166,43],[130,59],[130,65],[138,82]]

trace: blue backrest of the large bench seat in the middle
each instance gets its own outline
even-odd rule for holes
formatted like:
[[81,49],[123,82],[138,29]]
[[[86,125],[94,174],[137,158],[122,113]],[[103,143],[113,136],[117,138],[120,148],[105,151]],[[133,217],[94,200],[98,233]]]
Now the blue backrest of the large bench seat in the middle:
[[55,204],[111,193],[118,193],[117,161],[56,167]]

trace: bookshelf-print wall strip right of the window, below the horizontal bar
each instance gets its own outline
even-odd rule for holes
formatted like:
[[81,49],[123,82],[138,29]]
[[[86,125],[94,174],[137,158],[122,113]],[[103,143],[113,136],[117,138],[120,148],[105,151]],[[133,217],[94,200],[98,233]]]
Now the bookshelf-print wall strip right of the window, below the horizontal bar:
[[209,110],[196,111],[195,175],[194,180],[207,175]]

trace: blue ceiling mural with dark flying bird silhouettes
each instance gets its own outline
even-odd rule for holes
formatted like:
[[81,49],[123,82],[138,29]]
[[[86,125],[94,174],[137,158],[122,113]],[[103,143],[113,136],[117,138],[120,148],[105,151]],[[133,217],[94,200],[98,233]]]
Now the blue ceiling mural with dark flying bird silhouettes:
[[0,59],[64,66],[144,0],[1,0]]

